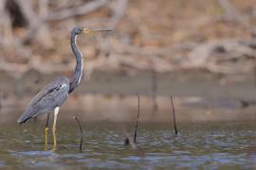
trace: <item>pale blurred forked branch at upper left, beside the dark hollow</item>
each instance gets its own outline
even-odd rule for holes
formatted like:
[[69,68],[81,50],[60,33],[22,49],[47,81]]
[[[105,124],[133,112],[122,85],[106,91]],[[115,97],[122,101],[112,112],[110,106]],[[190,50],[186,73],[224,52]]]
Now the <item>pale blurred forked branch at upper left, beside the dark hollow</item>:
[[[27,33],[24,37],[13,42],[14,45],[19,45],[25,42],[29,42],[34,36],[38,35],[37,32],[43,34],[43,39],[48,39],[46,42],[49,42],[50,37],[47,36],[47,26],[46,23],[50,21],[64,20],[67,18],[72,18],[78,15],[83,15],[90,13],[98,8],[103,7],[108,0],[95,0],[85,5],[79,6],[77,8],[68,8],[60,11],[53,11],[51,13],[47,12],[47,3],[48,0],[41,0],[39,2],[40,15],[33,11],[30,1],[27,0],[17,0],[18,6],[24,12],[25,17],[28,21]],[[44,41],[44,40],[43,40]]]

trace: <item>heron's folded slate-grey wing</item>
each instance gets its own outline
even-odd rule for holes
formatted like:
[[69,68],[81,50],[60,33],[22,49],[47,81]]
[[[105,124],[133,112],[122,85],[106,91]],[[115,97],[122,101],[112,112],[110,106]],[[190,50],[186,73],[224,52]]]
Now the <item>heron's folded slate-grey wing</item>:
[[32,98],[18,122],[24,123],[31,117],[61,106],[68,95],[68,91],[69,82],[67,77],[60,76],[55,79]]

